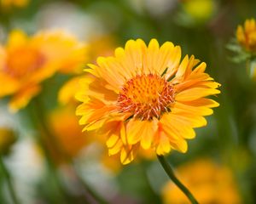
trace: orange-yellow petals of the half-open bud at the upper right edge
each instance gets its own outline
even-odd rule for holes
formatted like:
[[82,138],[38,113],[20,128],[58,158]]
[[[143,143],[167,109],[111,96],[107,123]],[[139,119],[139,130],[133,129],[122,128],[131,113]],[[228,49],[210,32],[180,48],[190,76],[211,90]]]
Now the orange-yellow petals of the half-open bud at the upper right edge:
[[246,20],[244,26],[238,26],[236,30],[237,41],[248,52],[256,51],[256,24],[255,20]]

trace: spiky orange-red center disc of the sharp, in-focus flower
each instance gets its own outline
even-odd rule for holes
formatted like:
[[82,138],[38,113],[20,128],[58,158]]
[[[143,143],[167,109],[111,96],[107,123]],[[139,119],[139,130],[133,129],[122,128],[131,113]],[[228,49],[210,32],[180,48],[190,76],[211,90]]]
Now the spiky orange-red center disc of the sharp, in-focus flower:
[[118,97],[119,110],[141,120],[159,118],[163,112],[170,111],[168,106],[173,102],[172,84],[154,74],[138,75],[125,82]]

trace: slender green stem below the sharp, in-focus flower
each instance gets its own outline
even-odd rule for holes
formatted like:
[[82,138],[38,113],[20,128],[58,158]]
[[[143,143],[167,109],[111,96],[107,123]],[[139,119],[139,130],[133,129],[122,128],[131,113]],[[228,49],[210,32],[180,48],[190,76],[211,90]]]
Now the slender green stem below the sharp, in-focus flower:
[[166,161],[166,158],[164,156],[157,156],[157,158],[160,161],[162,167],[165,169],[169,178],[171,178],[173,183],[176,184],[177,187],[183,191],[183,193],[189,198],[189,201],[191,201],[192,204],[198,204],[199,202],[195,200],[195,197],[191,194],[191,192],[177,179],[177,177],[173,173],[172,167]]

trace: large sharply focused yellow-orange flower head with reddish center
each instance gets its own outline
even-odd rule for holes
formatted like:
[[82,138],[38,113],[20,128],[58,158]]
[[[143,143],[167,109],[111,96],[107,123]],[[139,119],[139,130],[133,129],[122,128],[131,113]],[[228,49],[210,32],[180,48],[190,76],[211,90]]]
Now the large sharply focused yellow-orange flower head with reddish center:
[[106,137],[108,153],[120,153],[127,164],[137,150],[186,152],[186,139],[195,138],[194,127],[207,124],[218,103],[206,99],[219,94],[218,82],[204,73],[206,63],[185,56],[172,42],[161,47],[153,39],[126,42],[113,57],[100,57],[87,71],[76,97],[84,131],[95,130]]

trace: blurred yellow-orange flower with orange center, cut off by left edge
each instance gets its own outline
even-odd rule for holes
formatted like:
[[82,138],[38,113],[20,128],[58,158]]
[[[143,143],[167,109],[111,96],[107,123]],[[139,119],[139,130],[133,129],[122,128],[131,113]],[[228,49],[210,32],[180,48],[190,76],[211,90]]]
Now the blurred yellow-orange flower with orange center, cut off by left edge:
[[19,110],[56,71],[81,69],[85,51],[83,43],[64,31],[41,31],[32,37],[12,31],[7,44],[0,45],[0,98],[11,95],[10,110]]

